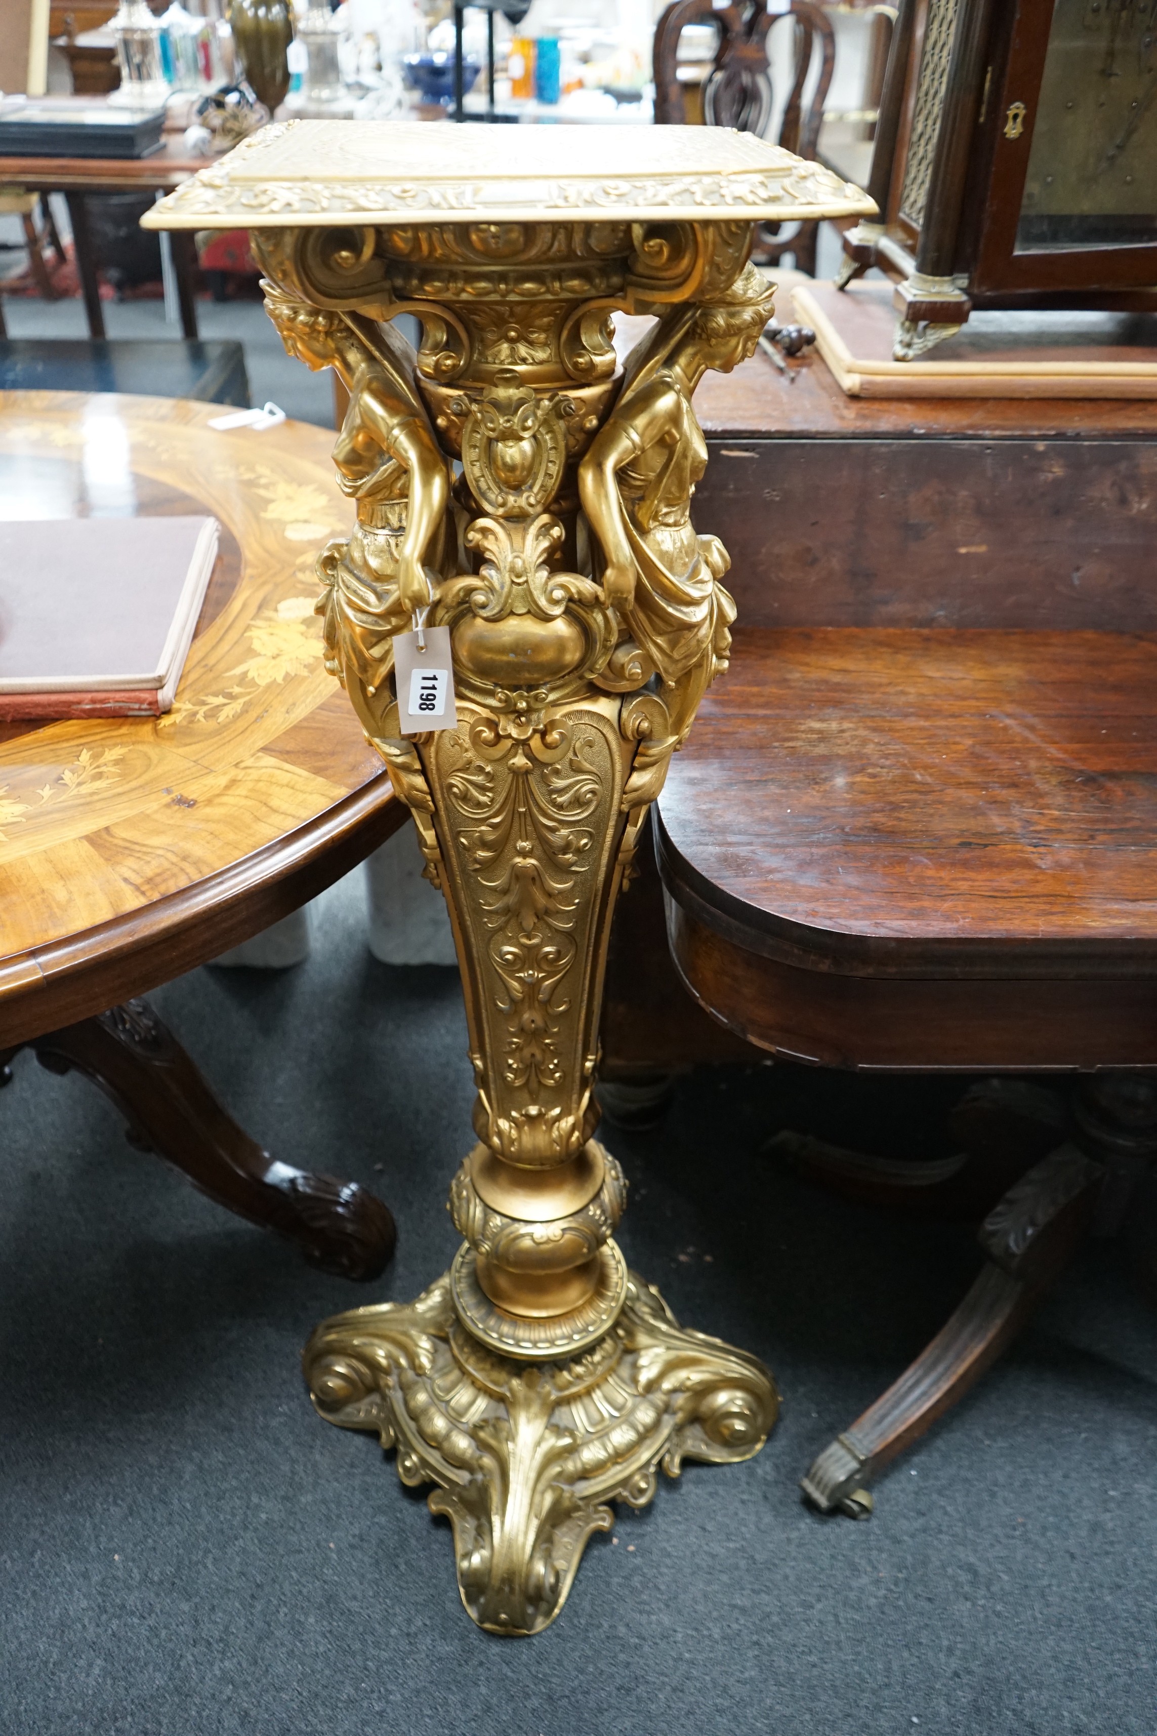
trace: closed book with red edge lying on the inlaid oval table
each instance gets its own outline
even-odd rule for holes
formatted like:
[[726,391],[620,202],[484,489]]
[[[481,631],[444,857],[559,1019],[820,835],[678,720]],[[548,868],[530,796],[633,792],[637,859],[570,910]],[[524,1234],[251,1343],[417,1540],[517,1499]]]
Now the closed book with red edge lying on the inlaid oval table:
[[219,535],[210,517],[0,519],[0,719],[167,712]]

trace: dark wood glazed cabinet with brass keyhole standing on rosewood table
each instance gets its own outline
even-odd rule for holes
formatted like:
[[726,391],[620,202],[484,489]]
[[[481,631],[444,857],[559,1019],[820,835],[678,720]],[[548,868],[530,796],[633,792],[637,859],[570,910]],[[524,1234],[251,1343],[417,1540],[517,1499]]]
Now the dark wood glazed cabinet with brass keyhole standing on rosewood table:
[[900,0],[840,281],[897,279],[895,356],[973,307],[1157,309],[1157,0]]

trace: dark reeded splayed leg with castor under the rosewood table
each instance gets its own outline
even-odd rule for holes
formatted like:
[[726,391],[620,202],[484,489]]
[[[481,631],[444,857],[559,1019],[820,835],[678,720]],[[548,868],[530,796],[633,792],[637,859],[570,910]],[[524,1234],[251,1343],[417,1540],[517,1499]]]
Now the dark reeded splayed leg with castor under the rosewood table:
[[1091,1224],[1103,1175],[1075,1146],[1058,1146],[1010,1187],[980,1226],[987,1262],[961,1305],[803,1477],[814,1507],[867,1519],[869,1479],[964,1396],[1056,1281]]

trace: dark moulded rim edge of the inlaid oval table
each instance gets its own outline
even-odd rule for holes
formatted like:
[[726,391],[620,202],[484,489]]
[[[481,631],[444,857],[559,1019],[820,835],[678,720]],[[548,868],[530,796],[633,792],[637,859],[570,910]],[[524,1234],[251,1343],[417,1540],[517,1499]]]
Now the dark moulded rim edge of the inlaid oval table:
[[385,769],[271,844],[80,934],[0,960],[0,1047],[217,958],[324,892],[406,821]]

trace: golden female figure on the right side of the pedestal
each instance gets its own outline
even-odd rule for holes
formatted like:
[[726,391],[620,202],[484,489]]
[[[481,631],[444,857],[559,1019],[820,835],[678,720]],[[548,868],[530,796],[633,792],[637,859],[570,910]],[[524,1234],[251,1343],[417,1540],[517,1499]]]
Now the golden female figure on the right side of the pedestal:
[[727,667],[735,618],[720,585],[727,550],[690,523],[690,496],[708,464],[690,399],[708,368],[730,373],[755,352],[774,293],[748,266],[718,299],[661,319],[628,358],[623,391],[579,467],[583,510],[605,561],[604,597],[638,648],[626,648],[626,660],[621,648],[616,661],[630,661],[644,679],[659,672],[677,741]]

